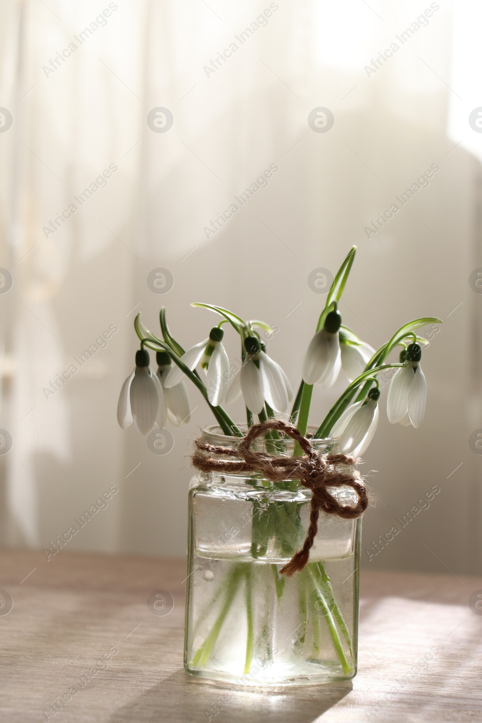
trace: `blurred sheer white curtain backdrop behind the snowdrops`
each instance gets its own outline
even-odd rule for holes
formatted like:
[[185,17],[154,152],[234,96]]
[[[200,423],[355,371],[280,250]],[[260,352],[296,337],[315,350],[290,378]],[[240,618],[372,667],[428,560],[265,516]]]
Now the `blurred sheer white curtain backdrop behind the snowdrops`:
[[[444,322],[423,354],[422,427],[390,425],[382,394],[363,468],[379,498],[363,521],[363,565],[480,571],[482,457],[469,446],[482,427],[482,296],[469,286],[482,266],[482,135],[469,124],[482,106],[480,4],[0,7],[0,106],[12,114],[6,129],[0,111],[0,266],[13,277],[0,294],[0,427],[14,440],[0,455],[1,543],[50,547],[116,485],[65,552],[184,555],[186,451],[215,420],[191,387],[191,422],[170,428],[168,455],[152,454],[134,427],[119,429],[117,397],[138,348],[134,316],[141,311],[158,332],[165,305],[185,348],[216,318],[191,301],[262,318],[279,327],[270,354],[297,388],[324,305],[309,273],[335,273],[357,244],[340,306],[346,325],[378,348],[408,320]],[[271,15],[256,22],[265,9]],[[260,27],[241,43],[252,23]],[[231,43],[236,51],[207,72]],[[397,50],[374,70],[392,43]],[[319,106],[335,116],[330,132],[309,127]],[[147,124],[157,107],[173,114],[168,132]],[[210,220],[270,164],[279,170],[269,185],[207,239]],[[368,239],[371,219],[432,164],[440,170],[429,186]],[[84,204],[74,200],[114,166]],[[72,218],[44,231],[72,202]],[[155,268],[171,271],[168,294],[147,286]],[[46,398],[43,388],[110,325],[118,331],[108,346]],[[238,355],[229,330],[225,345]],[[315,388],[311,423],[344,385],[342,375],[328,393]],[[242,419],[241,401],[228,411]],[[369,562],[373,542],[434,485],[430,507]]]

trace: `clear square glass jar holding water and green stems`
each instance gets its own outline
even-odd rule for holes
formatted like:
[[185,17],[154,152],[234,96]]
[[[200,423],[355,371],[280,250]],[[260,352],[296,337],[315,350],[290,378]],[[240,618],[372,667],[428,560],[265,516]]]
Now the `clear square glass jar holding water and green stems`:
[[[236,448],[239,438],[218,429],[205,429],[202,440]],[[320,453],[335,444],[311,442]],[[257,439],[251,448],[291,456],[294,442]],[[329,489],[340,502],[356,504],[351,487]],[[291,578],[280,575],[304,542],[310,500],[311,491],[296,480],[202,472],[191,480],[188,673],[254,686],[356,675],[361,518],[320,513],[308,565]]]

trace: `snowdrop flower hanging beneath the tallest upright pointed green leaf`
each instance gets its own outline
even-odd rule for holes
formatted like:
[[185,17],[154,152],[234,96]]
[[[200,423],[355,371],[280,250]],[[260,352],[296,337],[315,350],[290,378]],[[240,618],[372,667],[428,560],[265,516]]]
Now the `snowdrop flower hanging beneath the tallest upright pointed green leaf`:
[[324,328],[311,339],[303,361],[302,372],[305,384],[321,383],[323,389],[329,389],[335,384],[341,369],[338,335],[340,325],[340,314],[330,312],[324,320]]

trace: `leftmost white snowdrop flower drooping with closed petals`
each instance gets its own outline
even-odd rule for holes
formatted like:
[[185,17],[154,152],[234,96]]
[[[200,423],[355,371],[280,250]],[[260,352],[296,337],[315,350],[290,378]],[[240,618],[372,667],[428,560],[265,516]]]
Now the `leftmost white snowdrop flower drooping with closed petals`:
[[149,363],[147,349],[139,349],[136,352],[136,367],[122,385],[117,406],[117,421],[122,429],[130,427],[134,422],[142,435],[150,432],[159,407],[163,407],[163,404],[159,403],[163,393],[160,381],[152,374]]

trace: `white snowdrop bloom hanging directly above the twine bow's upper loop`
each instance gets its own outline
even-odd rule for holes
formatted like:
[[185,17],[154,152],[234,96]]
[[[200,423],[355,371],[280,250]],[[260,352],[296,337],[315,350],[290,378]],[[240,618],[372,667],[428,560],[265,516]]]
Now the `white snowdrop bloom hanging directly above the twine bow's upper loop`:
[[[277,412],[285,412],[288,408],[288,388],[291,396],[293,392],[285,373],[280,365],[270,359],[255,336],[248,336],[244,340],[246,359],[239,373],[239,385],[243,393],[247,408],[253,414],[260,414],[266,400],[269,406]],[[237,376],[237,375],[236,375]],[[237,386],[237,380],[236,380]],[[235,390],[237,394],[237,388]],[[230,395],[231,401],[236,398]]]

